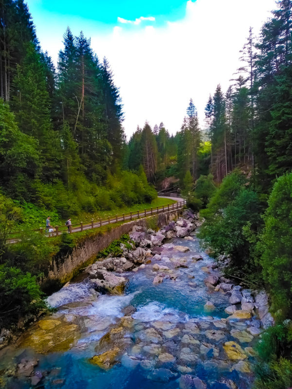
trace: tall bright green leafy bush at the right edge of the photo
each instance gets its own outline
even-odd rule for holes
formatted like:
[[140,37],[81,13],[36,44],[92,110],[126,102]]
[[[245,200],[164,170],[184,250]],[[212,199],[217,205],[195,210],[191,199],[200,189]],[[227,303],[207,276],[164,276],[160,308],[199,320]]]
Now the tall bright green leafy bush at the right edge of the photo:
[[292,318],[292,173],[274,184],[258,243],[263,277],[271,289],[272,310]]

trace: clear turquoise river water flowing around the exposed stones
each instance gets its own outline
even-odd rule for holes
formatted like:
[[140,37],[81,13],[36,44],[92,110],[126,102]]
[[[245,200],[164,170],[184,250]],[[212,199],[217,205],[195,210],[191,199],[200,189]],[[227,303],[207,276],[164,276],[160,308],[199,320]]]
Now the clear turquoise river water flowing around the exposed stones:
[[[178,389],[182,375],[180,366],[183,366],[191,369],[189,374],[201,378],[208,389],[226,389],[228,388],[226,380],[235,382],[239,389],[250,388],[252,376],[235,370],[230,371],[237,361],[226,363],[226,355],[222,349],[225,341],[238,342],[229,334],[229,330],[236,327],[227,324],[224,338],[220,341],[210,341],[204,335],[206,329],[220,329],[214,326],[213,321],[226,318],[224,309],[230,304],[228,295],[210,291],[205,286],[206,266],[212,265],[213,260],[200,251],[199,242],[196,236],[194,238],[192,241],[176,238],[171,242],[174,245],[186,246],[190,251],[182,253],[173,248],[164,248],[163,260],[152,261],[137,272],[124,273],[123,276],[129,281],[123,296],[98,296],[87,281],[72,283],[69,287],[62,288],[49,298],[49,302],[57,307],[57,312],[49,319],[78,325],[78,336],[69,350],[37,353],[28,346],[22,347],[20,340],[17,345],[6,348],[0,353],[0,369],[4,371],[8,366],[15,366],[23,357],[36,356],[39,362],[35,370],[41,371],[44,375],[36,388]],[[192,257],[199,253],[203,256],[203,260],[192,261]],[[171,261],[173,258],[185,259],[188,268],[175,269]],[[153,279],[157,274],[152,271],[154,263],[168,266],[177,279],[175,281],[166,279],[163,283],[153,285]],[[207,301],[213,302],[215,310],[209,312],[204,309]],[[101,342],[102,336],[109,333],[112,328],[121,328],[121,318],[124,316],[122,311],[128,305],[136,309],[131,314],[133,325],[123,329],[122,337]],[[169,323],[169,327],[177,328],[178,334],[166,337],[164,330],[153,327],[160,322]],[[219,350],[216,358],[213,354],[215,349],[213,350],[212,347],[211,351],[202,354],[200,344],[190,345],[182,342],[183,335],[189,328],[187,326],[192,323],[199,328],[198,333],[193,336],[200,343],[207,343],[210,347],[213,345]],[[153,339],[151,341],[145,339],[143,335],[145,330],[153,328],[160,336],[156,343]],[[34,328],[28,333],[33,331]],[[164,362],[159,360],[159,353],[146,352],[144,347],[147,348],[153,343],[161,348],[162,353],[171,354],[174,360]],[[103,370],[91,364],[90,358],[93,355],[101,354],[117,345],[122,352],[111,369]],[[250,346],[250,344],[240,345],[242,348]],[[197,355],[196,360],[182,360],[181,353],[186,347],[191,350],[191,354]],[[141,363],[137,363],[137,366],[128,366],[128,356],[134,357],[138,362],[146,361],[147,366],[142,366]],[[29,379],[25,377],[4,375],[4,382],[7,389],[31,388]]]

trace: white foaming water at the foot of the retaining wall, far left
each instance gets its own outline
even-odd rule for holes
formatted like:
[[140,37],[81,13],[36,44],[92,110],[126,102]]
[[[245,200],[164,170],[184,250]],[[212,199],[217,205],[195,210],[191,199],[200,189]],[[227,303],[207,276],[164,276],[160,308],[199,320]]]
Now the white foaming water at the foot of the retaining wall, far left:
[[58,292],[53,293],[47,298],[48,304],[57,308],[61,305],[75,301],[93,301],[98,297],[98,293],[92,288],[89,283],[72,283],[68,286],[63,286]]

